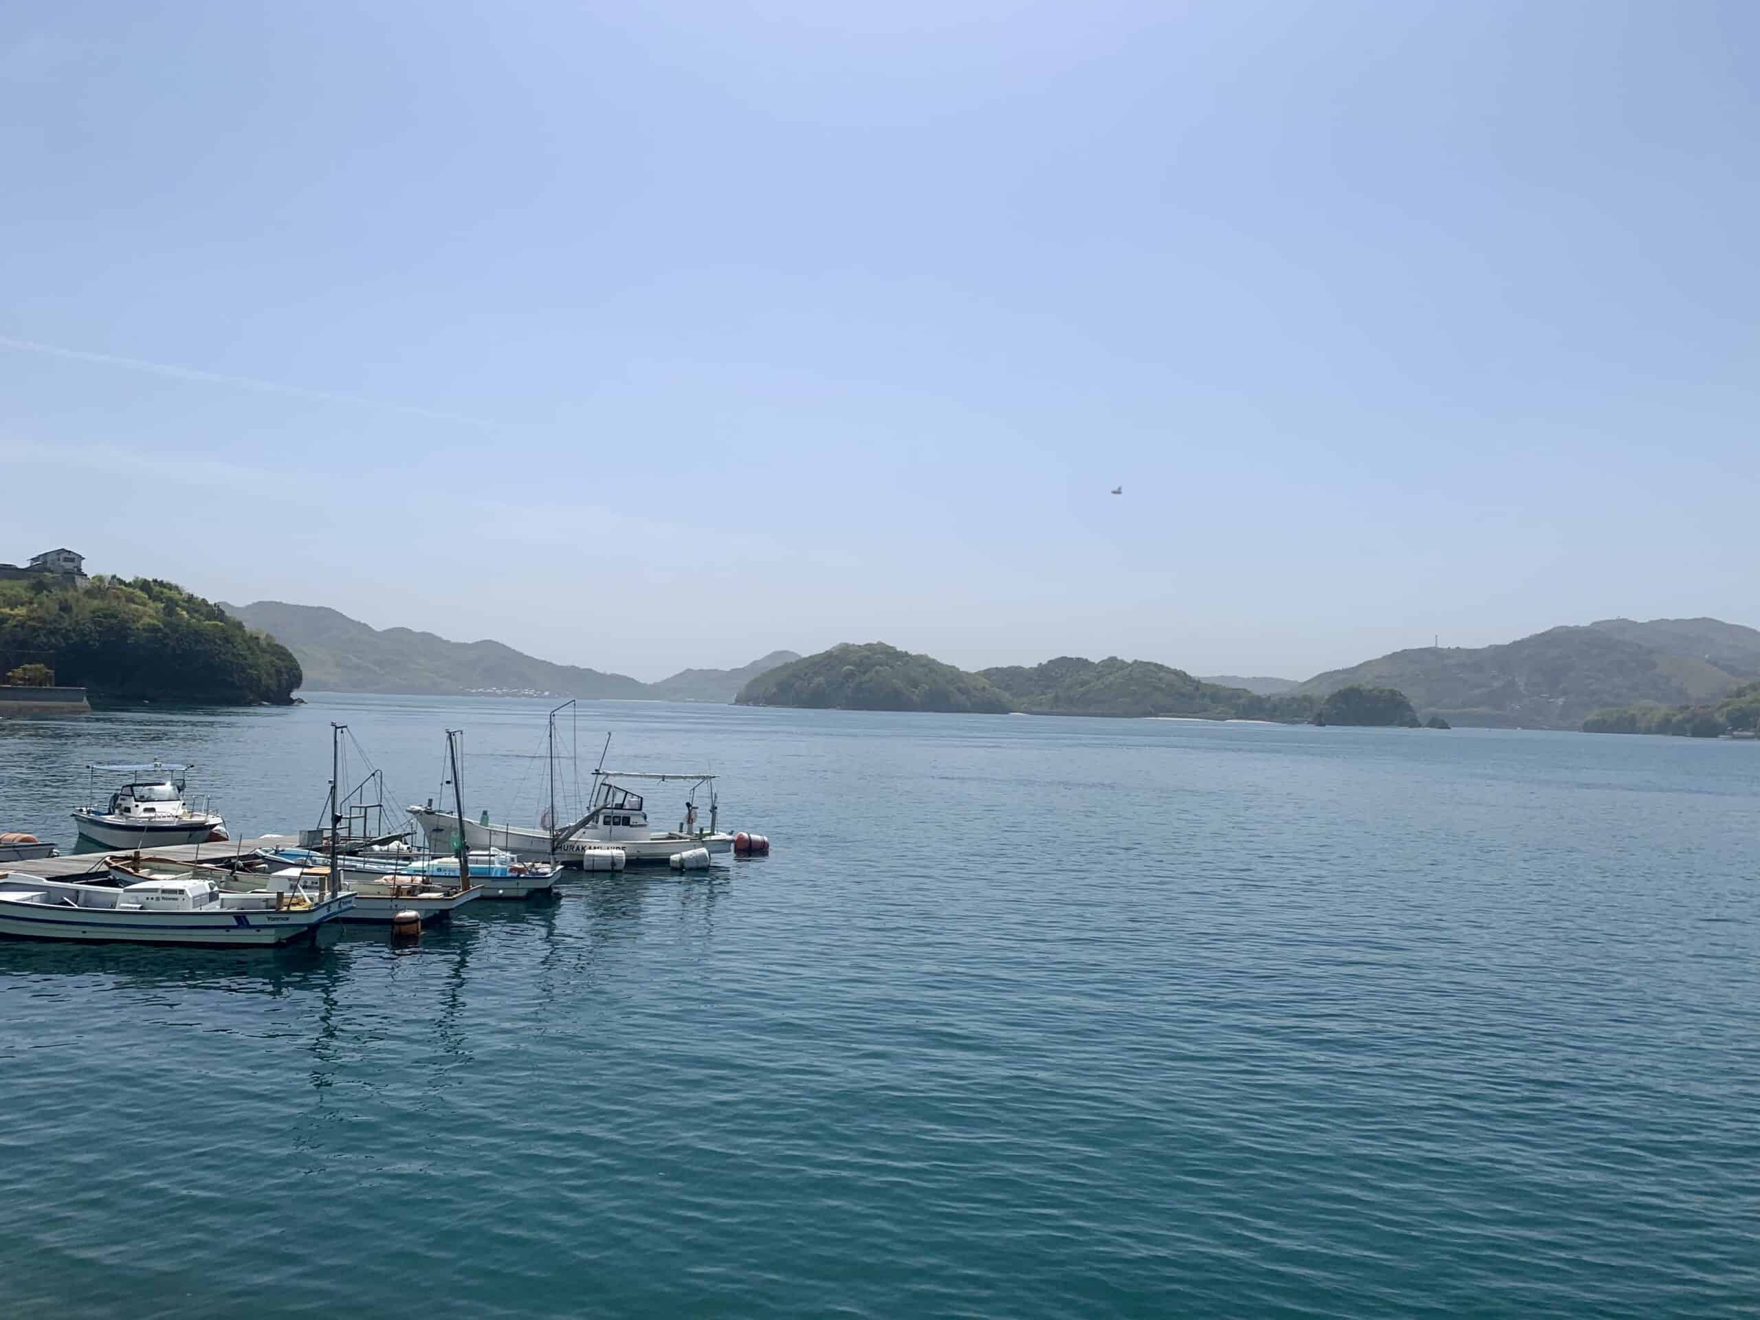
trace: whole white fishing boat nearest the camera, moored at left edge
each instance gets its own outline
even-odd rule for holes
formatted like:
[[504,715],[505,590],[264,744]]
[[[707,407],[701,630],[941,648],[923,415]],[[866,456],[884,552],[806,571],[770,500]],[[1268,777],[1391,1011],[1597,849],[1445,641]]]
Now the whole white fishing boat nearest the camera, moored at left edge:
[[25,940],[262,947],[308,936],[352,906],[348,894],[313,901],[290,885],[227,894],[195,876],[120,885],[0,873],[0,935]]

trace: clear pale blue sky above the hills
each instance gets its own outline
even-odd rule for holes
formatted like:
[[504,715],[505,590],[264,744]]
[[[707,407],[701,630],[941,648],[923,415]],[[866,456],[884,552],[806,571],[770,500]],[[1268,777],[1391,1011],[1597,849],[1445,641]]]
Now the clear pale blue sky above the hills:
[[644,679],[1760,625],[1756,60],[1746,0],[9,5],[0,560]]

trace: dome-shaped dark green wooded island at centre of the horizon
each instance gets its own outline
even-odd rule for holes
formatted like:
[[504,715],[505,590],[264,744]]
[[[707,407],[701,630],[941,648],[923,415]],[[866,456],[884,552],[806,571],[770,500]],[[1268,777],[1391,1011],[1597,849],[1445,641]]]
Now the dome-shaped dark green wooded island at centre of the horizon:
[[1008,697],[977,674],[885,642],[845,642],[759,674],[741,706],[1005,715]]

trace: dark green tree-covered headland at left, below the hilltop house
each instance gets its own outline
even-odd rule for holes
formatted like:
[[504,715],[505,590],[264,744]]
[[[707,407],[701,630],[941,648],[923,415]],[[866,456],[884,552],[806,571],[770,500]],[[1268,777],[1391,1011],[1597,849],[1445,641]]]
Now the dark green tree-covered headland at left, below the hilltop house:
[[95,697],[287,704],[301,681],[285,646],[150,577],[0,583],[0,651],[49,656],[56,683]]

